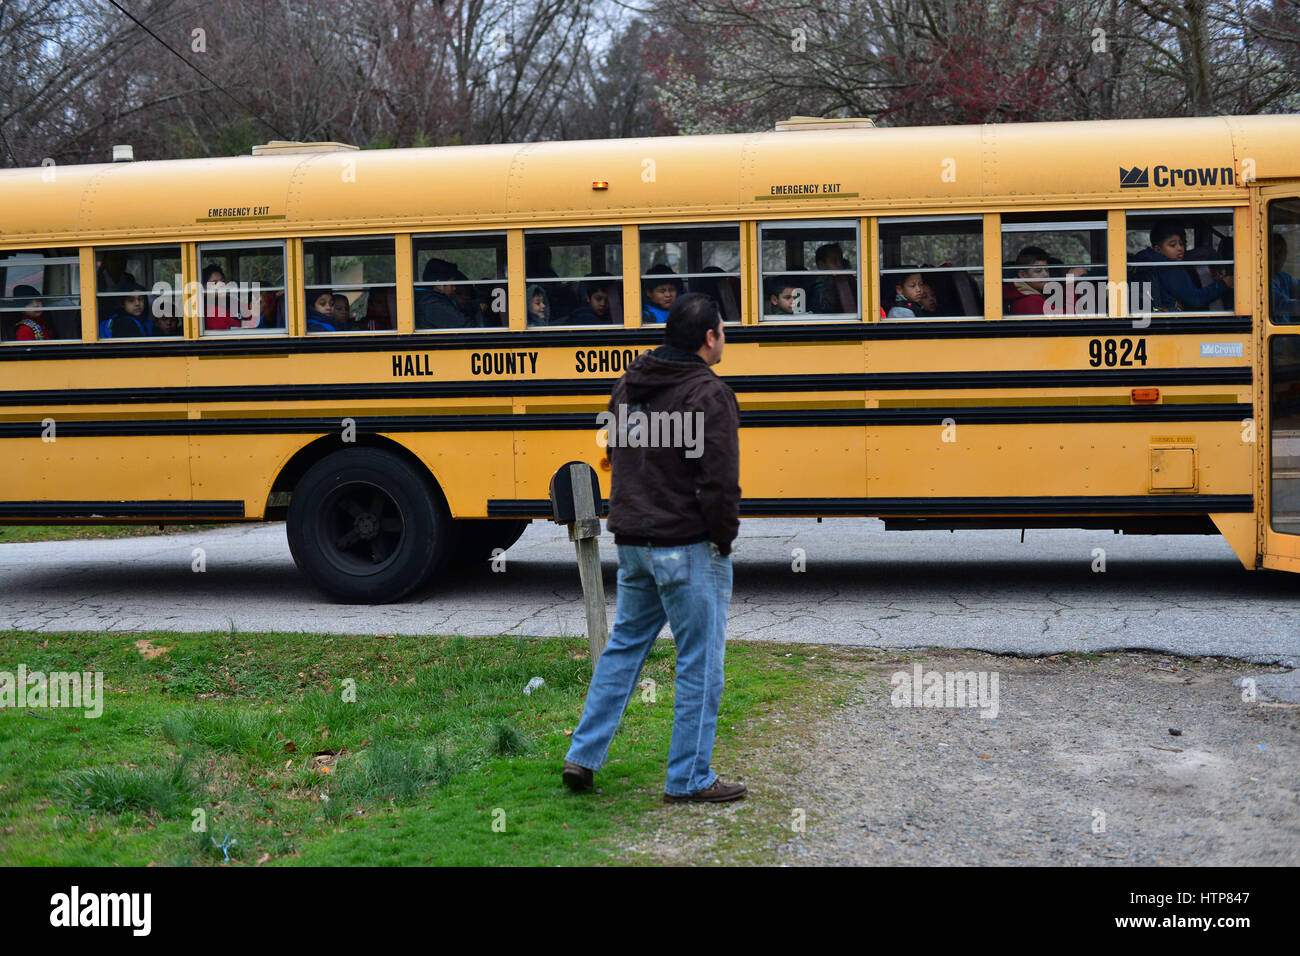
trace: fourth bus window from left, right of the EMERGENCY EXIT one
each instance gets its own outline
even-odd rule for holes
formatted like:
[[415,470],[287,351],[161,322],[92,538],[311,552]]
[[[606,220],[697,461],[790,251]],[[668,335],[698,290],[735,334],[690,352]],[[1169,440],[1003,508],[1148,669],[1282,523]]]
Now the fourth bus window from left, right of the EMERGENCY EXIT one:
[[308,334],[396,328],[393,237],[303,239]]

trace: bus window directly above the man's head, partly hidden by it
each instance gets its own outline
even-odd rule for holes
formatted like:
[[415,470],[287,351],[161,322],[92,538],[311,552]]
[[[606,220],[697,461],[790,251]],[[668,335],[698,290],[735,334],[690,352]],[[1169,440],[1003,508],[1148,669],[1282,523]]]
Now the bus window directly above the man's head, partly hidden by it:
[[708,295],[738,323],[740,225],[642,226],[641,286],[642,323],[664,321],[679,291]]

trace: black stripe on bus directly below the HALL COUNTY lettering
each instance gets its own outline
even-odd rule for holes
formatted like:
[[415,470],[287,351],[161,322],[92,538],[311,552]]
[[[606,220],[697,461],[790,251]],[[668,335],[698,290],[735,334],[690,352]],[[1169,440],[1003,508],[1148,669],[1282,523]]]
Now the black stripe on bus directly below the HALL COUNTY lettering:
[[[736,392],[872,392],[897,389],[1128,388],[1249,385],[1247,365],[1218,368],[1097,368],[988,372],[867,372],[844,375],[733,375]],[[415,398],[607,395],[616,378],[493,381],[317,382],[306,385],[178,385],[125,389],[0,392],[0,405],[165,405],[202,402],[341,402]]]

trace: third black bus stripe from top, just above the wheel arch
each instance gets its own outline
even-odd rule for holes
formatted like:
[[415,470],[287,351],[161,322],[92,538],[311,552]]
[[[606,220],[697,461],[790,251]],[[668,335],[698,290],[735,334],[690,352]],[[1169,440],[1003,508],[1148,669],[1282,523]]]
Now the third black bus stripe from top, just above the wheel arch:
[[[933,425],[953,419],[963,425],[1023,425],[1049,423],[1240,421],[1251,418],[1249,403],[1230,405],[1058,405],[1058,406],[933,406],[918,408],[759,408],[742,411],[741,428],[814,428],[874,425]],[[536,415],[386,415],[351,418],[359,433],[381,432],[512,432],[595,431],[592,412]],[[53,437],[112,437],[159,434],[338,434],[338,418],[256,419],[138,419],[118,421],[55,421]],[[42,437],[40,421],[3,421],[0,438]]]

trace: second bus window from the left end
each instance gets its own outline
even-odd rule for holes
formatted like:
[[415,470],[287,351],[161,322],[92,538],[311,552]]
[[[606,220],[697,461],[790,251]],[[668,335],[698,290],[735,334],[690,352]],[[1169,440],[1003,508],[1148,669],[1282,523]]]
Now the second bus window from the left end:
[[179,338],[179,246],[107,246],[95,250],[95,321],[112,338]]

